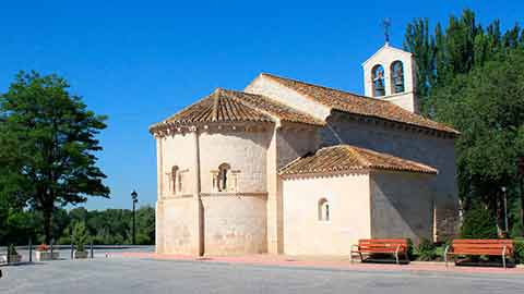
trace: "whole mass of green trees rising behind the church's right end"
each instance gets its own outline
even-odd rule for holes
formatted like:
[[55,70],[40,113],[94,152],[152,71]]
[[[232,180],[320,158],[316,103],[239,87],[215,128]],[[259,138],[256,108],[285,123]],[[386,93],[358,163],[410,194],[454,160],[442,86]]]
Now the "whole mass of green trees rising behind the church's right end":
[[415,20],[404,47],[417,61],[422,114],[462,132],[456,150],[463,208],[487,208],[500,233],[507,187],[511,216],[519,216],[512,224],[523,228],[517,162],[524,157],[524,32],[515,24],[502,33],[499,21],[483,27],[471,10],[429,32],[428,20]]

